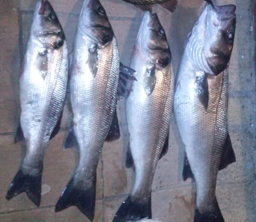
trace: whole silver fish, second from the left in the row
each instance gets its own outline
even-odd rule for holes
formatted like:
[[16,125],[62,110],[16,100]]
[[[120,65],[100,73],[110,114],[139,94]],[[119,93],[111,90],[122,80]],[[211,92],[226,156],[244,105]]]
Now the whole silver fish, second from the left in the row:
[[78,147],[79,165],[55,211],[75,205],[91,221],[95,211],[96,168],[116,108],[119,52],[99,0],[85,0],[70,64],[73,126],[65,147]]

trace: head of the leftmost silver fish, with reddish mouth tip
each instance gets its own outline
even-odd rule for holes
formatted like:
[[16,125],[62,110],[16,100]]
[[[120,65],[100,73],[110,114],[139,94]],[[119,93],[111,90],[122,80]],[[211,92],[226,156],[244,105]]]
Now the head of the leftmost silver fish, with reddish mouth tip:
[[65,35],[58,17],[47,0],[37,4],[33,24],[33,34],[48,47],[59,48],[63,45]]

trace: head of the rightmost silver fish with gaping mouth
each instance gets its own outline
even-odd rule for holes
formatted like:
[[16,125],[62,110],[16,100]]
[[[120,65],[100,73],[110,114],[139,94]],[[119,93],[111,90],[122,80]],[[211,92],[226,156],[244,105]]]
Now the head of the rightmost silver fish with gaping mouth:
[[214,6],[207,3],[204,55],[215,75],[230,61],[236,30],[236,6]]

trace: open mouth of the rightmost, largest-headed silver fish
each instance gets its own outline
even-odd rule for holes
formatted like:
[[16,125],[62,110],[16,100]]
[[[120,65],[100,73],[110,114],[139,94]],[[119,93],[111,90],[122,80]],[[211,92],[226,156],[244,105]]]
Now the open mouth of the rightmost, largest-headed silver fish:
[[223,5],[215,6],[211,0],[207,1],[208,7],[210,10],[217,14],[218,20],[230,20],[236,17],[236,6],[235,5]]

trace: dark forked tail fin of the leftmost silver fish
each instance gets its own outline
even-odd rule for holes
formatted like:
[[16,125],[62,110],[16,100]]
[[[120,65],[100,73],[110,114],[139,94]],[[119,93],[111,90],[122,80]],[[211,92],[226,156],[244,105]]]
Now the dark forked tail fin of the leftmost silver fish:
[[21,166],[14,177],[6,194],[6,199],[10,200],[20,193],[26,192],[29,199],[39,207],[41,202],[43,164],[38,168],[28,168]]

